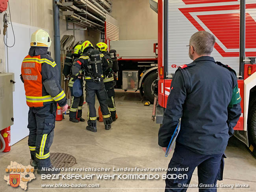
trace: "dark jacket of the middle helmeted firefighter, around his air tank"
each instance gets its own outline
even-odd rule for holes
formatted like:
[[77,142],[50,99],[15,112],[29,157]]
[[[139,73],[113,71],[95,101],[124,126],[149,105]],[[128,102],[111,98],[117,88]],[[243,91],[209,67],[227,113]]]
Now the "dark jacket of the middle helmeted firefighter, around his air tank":
[[[92,74],[89,72],[89,64],[90,64],[90,57],[88,52],[90,53],[93,49],[89,48],[85,50],[84,54],[79,57],[79,59],[73,64],[72,66],[72,78],[76,79],[78,76],[82,75],[82,70],[85,71],[85,81],[93,81],[91,79]],[[103,73],[108,69],[108,60],[104,57],[104,54],[100,54],[101,63],[102,63],[102,70]],[[102,76],[102,79],[104,76]]]

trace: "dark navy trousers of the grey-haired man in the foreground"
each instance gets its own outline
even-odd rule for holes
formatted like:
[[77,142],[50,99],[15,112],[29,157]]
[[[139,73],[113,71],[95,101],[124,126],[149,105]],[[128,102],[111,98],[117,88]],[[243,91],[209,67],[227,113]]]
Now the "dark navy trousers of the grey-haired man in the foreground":
[[[165,179],[165,192],[186,192],[197,167],[199,192],[217,192],[217,180],[223,179],[224,154],[202,155],[176,142]],[[180,169],[180,170],[177,170]],[[169,176],[168,176],[169,175]],[[182,175],[182,178],[171,177]]]

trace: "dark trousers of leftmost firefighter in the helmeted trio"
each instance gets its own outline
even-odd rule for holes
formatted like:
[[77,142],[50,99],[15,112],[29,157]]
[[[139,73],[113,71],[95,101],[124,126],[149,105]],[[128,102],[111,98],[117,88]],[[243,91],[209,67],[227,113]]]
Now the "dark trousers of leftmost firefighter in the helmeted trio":
[[83,107],[83,101],[84,97],[83,94],[80,97],[75,97],[73,95],[73,89],[72,87],[69,87],[70,94],[71,94],[71,105],[69,109],[69,118],[76,118],[76,111],[77,111],[77,117],[82,117],[82,107]]

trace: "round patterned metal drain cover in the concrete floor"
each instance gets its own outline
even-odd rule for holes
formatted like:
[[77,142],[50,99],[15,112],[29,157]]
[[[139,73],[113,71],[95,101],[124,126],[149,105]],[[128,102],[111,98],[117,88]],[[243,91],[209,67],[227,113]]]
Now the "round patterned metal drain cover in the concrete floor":
[[66,153],[50,153],[50,160],[57,168],[69,168],[76,164],[76,158]]

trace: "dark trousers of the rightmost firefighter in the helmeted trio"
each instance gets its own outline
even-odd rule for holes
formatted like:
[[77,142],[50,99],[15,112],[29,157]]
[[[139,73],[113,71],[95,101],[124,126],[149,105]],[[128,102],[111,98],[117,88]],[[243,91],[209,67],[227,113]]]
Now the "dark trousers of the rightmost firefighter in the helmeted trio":
[[104,83],[108,94],[108,108],[111,113],[112,120],[115,120],[116,108],[115,108],[115,82],[109,81]]

